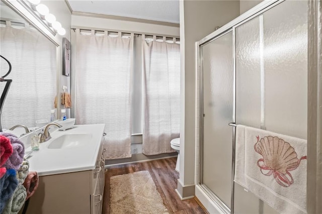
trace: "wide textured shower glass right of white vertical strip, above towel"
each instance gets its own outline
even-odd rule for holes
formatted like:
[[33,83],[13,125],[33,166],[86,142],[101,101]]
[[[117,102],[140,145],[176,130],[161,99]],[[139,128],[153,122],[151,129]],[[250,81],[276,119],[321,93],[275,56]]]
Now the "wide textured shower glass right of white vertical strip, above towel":
[[306,139],[307,1],[264,14],[266,129]]

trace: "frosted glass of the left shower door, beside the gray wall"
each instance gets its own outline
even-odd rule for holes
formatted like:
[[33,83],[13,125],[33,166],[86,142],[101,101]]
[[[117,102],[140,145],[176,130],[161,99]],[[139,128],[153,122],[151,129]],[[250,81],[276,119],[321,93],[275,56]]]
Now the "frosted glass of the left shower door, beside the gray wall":
[[232,32],[205,45],[203,53],[203,183],[230,206],[233,58]]

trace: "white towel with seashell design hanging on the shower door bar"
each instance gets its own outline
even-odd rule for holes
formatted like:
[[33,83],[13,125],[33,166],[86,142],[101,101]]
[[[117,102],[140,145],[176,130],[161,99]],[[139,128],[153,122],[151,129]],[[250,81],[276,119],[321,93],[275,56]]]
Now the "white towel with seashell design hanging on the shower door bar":
[[234,181],[280,213],[306,213],[306,140],[238,125]]

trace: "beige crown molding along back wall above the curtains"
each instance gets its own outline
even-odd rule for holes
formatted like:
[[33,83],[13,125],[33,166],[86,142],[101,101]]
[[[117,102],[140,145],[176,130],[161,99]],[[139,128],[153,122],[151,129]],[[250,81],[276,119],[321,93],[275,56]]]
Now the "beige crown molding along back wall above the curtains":
[[[66,2],[66,0],[65,0],[65,2]],[[171,23],[171,22],[160,22],[160,21],[153,21],[153,20],[146,20],[146,19],[130,18],[130,17],[86,13],[86,12],[80,12],[80,11],[72,11],[71,15],[72,16],[85,16],[85,17],[101,18],[101,19],[113,19],[113,20],[129,21],[129,22],[139,22],[139,23],[146,23],[146,24],[153,24],[153,25],[164,25],[164,26],[176,27],[176,28],[180,27],[179,24]]]

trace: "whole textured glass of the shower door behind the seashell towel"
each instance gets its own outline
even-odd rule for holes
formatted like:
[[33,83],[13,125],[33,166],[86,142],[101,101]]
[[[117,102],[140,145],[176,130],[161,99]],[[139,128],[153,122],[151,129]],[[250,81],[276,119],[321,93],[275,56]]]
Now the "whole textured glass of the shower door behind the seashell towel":
[[[236,28],[236,123],[260,128],[262,98],[267,130],[306,139],[307,2],[279,4],[262,26],[257,17]],[[236,213],[277,213],[236,183],[234,190]]]

